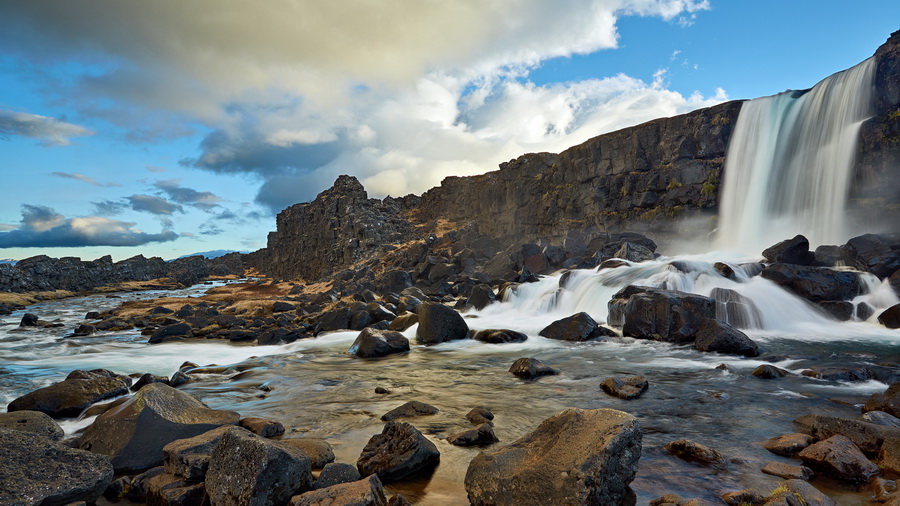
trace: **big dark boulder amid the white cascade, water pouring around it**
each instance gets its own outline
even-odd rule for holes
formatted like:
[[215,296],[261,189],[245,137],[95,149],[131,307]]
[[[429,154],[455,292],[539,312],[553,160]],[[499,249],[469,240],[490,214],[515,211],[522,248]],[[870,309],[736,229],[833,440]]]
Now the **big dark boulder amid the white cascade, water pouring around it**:
[[625,304],[622,332],[638,339],[689,343],[715,312],[715,301],[709,297],[648,288],[631,295]]

